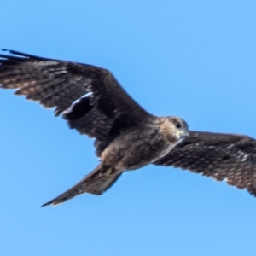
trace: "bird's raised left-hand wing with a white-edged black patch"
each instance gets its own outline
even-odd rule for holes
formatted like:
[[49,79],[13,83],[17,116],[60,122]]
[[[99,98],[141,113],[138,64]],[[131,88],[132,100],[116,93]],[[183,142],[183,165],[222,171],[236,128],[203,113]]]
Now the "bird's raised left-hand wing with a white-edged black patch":
[[0,84],[45,108],[55,107],[71,128],[96,137],[98,155],[121,129],[150,116],[101,67],[9,50],[0,54]]

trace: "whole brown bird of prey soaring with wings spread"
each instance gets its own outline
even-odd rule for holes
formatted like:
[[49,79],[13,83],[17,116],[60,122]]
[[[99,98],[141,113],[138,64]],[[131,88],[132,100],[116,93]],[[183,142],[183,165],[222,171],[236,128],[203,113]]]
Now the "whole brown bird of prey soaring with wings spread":
[[43,206],[76,195],[102,195],[125,171],[174,166],[256,195],[256,141],[247,136],[189,131],[177,117],[157,117],[129,96],[107,69],[14,50],[0,54],[0,86],[54,108],[72,129],[95,138],[101,162],[79,183]]

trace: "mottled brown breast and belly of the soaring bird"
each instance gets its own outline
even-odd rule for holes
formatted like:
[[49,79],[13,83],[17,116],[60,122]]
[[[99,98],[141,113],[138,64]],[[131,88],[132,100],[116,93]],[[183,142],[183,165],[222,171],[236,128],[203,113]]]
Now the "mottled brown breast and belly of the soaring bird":
[[102,162],[118,170],[134,170],[160,159],[172,148],[158,129],[127,131],[102,152]]

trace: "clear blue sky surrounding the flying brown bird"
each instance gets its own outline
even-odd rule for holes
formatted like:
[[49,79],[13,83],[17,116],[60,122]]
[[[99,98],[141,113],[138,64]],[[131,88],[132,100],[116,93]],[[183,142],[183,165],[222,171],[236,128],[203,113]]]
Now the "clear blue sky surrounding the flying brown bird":
[[[0,47],[110,69],[137,102],[193,130],[256,137],[255,1],[3,1]],[[102,196],[44,202],[97,164],[93,142],[0,91],[0,254],[253,255],[256,198],[171,167]]]

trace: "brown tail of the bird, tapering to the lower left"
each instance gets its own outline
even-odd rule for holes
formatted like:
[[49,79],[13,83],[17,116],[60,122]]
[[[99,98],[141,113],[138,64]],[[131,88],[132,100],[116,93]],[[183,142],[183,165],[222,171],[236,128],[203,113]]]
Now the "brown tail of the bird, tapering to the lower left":
[[66,192],[58,195],[53,200],[48,201],[42,205],[42,207],[61,204],[64,201],[72,199],[74,196],[85,192],[94,195],[102,195],[103,192],[113,185],[120,175],[121,172],[114,173],[111,167],[106,168],[100,164],[71,189],[68,189]]

